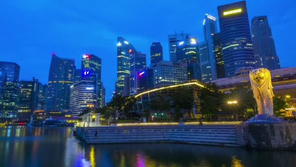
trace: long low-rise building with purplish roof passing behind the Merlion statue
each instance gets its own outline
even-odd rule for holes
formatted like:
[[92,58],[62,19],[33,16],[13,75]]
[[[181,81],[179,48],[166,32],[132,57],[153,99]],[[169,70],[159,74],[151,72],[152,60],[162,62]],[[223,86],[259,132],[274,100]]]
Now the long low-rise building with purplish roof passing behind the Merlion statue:
[[[241,69],[241,71],[244,70]],[[271,70],[270,73],[275,96],[286,99],[290,108],[296,108],[296,67],[275,69]],[[239,85],[251,86],[249,74],[243,72],[234,77],[214,80],[212,83],[216,83],[218,89],[224,93],[230,93],[231,89]]]

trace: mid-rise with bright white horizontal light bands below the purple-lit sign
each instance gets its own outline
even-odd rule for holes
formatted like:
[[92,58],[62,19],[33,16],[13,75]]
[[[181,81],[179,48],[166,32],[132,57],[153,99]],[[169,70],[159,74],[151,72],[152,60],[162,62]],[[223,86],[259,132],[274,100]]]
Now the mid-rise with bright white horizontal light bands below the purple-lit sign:
[[71,85],[70,111],[73,117],[78,117],[85,108],[96,105],[95,86],[94,81],[79,81]]

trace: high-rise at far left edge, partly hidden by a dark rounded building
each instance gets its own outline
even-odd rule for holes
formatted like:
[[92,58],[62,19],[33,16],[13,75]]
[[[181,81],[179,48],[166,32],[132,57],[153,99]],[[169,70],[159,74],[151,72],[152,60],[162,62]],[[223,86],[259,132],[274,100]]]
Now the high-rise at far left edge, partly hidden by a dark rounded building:
[[0,69],[5,71],[6,82],[3,86],[3,105],[0,112],[1,120],[16,118],[19,109],[19,65],[11,62],[0,62]]

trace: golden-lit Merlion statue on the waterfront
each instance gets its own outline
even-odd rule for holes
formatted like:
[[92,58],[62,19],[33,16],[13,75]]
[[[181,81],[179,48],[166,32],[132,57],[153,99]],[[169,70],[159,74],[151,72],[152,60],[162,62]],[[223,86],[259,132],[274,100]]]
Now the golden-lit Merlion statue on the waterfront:
[[258,114],[274,114],[274,106],[272,97],[271,75],[270,71],[266,68],[254,69],[250,72],[250,82],[258,105]]

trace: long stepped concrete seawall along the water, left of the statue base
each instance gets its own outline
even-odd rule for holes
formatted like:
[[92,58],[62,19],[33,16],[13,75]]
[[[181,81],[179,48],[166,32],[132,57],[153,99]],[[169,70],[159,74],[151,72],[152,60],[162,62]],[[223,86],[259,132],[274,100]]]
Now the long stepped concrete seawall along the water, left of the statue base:
[[[97,136],[95,137],[95,132]],[[77,136],[89,144],[182,142],[239,146],[235,125],[131,125],[76,127]]]

